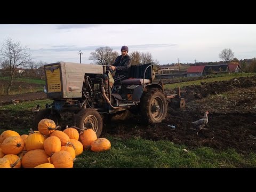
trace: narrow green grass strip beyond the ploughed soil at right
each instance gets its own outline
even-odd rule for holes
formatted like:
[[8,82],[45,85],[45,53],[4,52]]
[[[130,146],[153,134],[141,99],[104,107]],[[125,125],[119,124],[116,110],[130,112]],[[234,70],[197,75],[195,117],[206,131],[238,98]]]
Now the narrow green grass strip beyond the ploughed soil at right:
[[[215,75],[212,76],[212,78],[206,78],[206,79],[199,79],[195,81],[188,81],[188,82],[180,82],[180,83],[173,83],[173,84],[165,84],[164,88],[165,89],[174,89],[176,87],[185,87],[185,86],[190,86],[190,85],[201,85],[200,82],[206,82],[206,83],[211,83],[215,81],[228,81],[232,78],[239,78],[239,77],[251,77],[256,75],[256,73],[233,73],[233,74],[225,74],[225,75]],[[183,78],[186,79],[186,78]]]

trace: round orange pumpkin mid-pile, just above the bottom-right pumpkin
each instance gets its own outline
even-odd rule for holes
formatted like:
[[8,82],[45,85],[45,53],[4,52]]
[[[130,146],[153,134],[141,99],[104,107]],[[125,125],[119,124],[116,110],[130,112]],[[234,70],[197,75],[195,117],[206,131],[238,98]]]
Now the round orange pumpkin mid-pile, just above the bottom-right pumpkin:
[[57,151],[61,150],[61,141],[56,136],[51,136],[49,138],[46,138],[44,141],[44,150],[45,153],[49,156],[54,154]]

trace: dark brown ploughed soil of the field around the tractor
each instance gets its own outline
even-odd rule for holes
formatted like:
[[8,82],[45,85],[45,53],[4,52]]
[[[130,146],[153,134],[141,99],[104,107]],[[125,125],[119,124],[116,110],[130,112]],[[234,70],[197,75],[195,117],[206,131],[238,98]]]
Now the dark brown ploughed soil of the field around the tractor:
[[[180,83],[179,79],[166,79],[164,82],[166,94],[175,93],[175,89],[168,87],[174,83],[177,85]],[[181,95],[185,98],[186,108],[180,110],[169,105],[167,117],[162,123],[143,126],[140,123],[140,117],[137,116],[131,117],[132,121],[131,119],[130,121],[127,119],[127,121],[119,122],[105,121],[101,136],[113,140],[131,141],[134,138],[140,138],[150,142],[171,141],[174,145],[186,147],[191,151],[201,147],[209,147],[220,151],[220,153],[225,150],[232,150],[234,153],[242,154],[243,157],[254,154],[256,149],[255,74],[244,74],[241,77],[233,75],[222,81],[214,81],[214,78],[209,77],[196,79],[195,82],[190,81],[190,85],[181,87]],[[11,98],[20,100],[20,103],[16,106],[12,105]],[[25,107],[25,105],[28,106],[27,101],[30,101],[29,105],[33,108],[37,103],[44,105],[50,100],[46,100],[46,95],[42,91],[10,95],[9,97],[0,96],[0,130],[15,127],[15,129],[27,131],[33,127],[33,120],[31,119],[34,118],[35,114]],[[199,131],[197,135],[197,131],[192,129],[191,122],[202,118],[206,110],[209,111],[209,123],[205,126],[206,129]],[[70,114],[63,115],[63,125],[72,125],[72,120]],[[175,129],[168,125],[174,125]],[[149,143],[147,145],[150,146]],[[151,143],[150,148],[153,148],[154,145]],[[204,155],[207,156],[207,153]],[[167,167],[176,166],[169,165]],[[196,167],[196,165],[188,165],[187,167],[191,166]],[[217,165],[217,167],[219,166]],[[240,163],[230,166],[255,167],[256,163]],[[131,167],[136,166],[131,165]],[[186,165],[180,167],[186,167]]]

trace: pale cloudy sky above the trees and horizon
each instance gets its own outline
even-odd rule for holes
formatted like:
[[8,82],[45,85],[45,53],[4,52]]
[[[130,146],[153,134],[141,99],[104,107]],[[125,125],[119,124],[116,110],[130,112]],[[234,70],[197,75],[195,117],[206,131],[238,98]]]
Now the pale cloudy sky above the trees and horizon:
[[[221,61],[231,49],[238,60],[256,57],[256,24],[0,24],[1,47],[10,38],[27,46],[35,62],[93,63],[90,53],[110,47],[121,54],[150,53],[160,65]],[[129,53],[128,53],[129,54]]]

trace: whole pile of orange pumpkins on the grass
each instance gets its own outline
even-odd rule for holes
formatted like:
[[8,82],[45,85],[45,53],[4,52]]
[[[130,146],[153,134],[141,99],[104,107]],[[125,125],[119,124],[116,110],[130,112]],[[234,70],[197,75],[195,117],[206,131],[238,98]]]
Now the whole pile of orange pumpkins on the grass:
[[0,168],[72,168],[84,150],[110,149],[106,138],[97,138],[92,129],[68,127],[58,130],[51,119],[42,119],[38,131],[29,134],[6,130],[0,135]]

